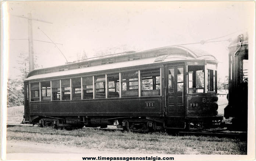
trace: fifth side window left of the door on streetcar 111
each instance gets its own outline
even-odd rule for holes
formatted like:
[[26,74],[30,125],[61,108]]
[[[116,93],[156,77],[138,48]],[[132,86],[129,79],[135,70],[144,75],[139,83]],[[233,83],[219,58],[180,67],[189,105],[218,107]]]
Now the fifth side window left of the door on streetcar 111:
[[93,98],[92,76],[83,77],[83,99]]

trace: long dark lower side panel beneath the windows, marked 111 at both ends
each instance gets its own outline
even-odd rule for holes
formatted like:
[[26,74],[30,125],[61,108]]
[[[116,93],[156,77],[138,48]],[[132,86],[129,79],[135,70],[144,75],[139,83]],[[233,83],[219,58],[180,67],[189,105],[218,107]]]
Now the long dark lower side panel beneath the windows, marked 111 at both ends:
[[38,116],[162,116],[158,98],[96,99],[31,102],[30,115]]

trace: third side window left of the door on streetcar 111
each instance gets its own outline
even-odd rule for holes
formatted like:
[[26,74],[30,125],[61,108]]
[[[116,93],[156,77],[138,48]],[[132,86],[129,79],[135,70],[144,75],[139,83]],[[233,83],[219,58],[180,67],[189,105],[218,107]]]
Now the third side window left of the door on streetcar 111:
[[108,98],[119,97],[119,74],[108,74]]

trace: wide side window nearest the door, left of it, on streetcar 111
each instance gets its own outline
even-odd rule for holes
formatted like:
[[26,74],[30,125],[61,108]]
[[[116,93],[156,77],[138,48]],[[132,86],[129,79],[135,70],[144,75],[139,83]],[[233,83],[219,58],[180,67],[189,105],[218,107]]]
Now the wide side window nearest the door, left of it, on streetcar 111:
[[142,96],[160,96],[160,69],[141,71]]

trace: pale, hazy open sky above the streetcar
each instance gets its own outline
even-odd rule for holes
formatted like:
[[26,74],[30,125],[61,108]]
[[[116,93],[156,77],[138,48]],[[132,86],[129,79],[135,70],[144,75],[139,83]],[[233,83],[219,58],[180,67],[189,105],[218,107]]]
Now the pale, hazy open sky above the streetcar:
[[[206,50],[219,61],[218,76],[228,75],[229,38],[252,28],[251,2],[153,2],[153,1],[7,1],[9,15],[9,78],[18,78],[19,55],[28,55],[28,20],[17,16],[52,22],[32,21],[33,39],[57,45],[68,61],[77,54],[146,50],[217,38],[192,46]],[[40,29],[38,29],[40,27]],[[46,36],[42,31],[48,36]],[[225,36],[227,35],[227,36]],[[225,36],[225,37],[222,37]],[[222,37],[222,38],[218,38]],[[39,68],[65,63],[54,44],[33,41]]]

